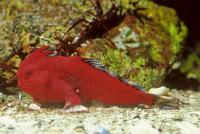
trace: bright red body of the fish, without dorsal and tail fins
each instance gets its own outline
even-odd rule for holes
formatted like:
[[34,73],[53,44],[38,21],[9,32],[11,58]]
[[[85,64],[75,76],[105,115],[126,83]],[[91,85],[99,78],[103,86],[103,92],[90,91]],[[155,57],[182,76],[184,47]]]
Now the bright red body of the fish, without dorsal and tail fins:
[[97,101],[105,105],[152,105],[155,96],[110,76],[79,56],[48,55],[48,47],[37,49],[20,64],[18,85],[40,103],[68,106]]

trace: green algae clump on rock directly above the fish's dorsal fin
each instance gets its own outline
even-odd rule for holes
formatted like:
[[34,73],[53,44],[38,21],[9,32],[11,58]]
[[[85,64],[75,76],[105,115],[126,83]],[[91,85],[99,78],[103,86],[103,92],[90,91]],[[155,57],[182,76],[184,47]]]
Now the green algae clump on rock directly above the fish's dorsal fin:
[[166,70],[164,68],[158,69],[147,66],[147,57],[138,56],[136,59],[131,59],[127,51],[113,50],[105,45],[108,43],[105,40],[95,40],[93,48],[86,50],[87,52],[83,56],[99,59],[102,64],[108,67],[109,71],[116,73],[120,77],[134,81],[146,89],[151,88],[152,85],[158,86],[164,79]]

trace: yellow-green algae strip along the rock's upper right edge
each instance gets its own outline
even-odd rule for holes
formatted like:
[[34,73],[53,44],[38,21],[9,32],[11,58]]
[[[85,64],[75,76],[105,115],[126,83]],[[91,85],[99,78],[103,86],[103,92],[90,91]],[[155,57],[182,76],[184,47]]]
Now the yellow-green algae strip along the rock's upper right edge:
[[149,0],[142,0],[142,6],[147,8],[141,14],[158,24],[170,37],[170,49],[173,53],[170,58],[172,64],[176,59],[176,54],[180,53],[184,40],[187,36],[187,27],[178,18],[176,11],[172,8],[156,5]]

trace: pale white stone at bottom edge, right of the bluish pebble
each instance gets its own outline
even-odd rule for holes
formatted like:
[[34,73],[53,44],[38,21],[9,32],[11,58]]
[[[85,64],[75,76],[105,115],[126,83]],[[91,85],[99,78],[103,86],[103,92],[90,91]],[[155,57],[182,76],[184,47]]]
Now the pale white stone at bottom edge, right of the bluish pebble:
[[130,134],[159,134],[147,120],[140,120],[129,130]]

